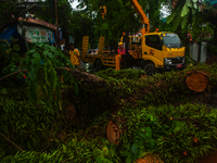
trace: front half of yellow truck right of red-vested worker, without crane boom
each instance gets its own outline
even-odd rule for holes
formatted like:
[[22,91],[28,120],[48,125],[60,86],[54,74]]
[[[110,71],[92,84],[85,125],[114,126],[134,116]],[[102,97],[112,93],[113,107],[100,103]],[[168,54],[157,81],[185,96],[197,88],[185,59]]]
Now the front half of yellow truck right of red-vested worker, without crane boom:
[[[132,42],[135,39],[137,41]],[[177,70],[184,65],[186,47],[175,33],[154,32],[140,37],[130,36],[128,40],[128,52],[132,57],[129,62],[148,75],[155,74],[157,70]]]

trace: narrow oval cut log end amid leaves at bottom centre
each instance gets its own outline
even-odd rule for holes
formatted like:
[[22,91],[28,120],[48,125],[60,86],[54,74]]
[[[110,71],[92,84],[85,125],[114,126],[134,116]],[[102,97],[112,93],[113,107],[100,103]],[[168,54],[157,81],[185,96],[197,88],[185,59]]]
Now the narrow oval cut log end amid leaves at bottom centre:
[[119,143],[120,129],[111,121],[106,127],[106,137],[111,143]]

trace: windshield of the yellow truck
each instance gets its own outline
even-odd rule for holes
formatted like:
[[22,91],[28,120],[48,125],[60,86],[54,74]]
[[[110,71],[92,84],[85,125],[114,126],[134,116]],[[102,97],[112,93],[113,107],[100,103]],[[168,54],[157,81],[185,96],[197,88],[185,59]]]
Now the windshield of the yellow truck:
[[162,34],[164,45],[168,48],[182,48],[183,45],[176,34]]

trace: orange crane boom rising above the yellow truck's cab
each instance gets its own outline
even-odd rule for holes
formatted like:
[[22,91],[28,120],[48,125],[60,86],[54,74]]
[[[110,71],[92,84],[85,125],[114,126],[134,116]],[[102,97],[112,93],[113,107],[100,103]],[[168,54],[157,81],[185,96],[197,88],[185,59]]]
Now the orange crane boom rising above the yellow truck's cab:
[[146,14],[144,13],[144,11],[142,10],[142,7],[138,3],[137,0],[129,0],[129,1],[141,18],[141,22],[143,24],[143,28],[142,28],[142,36],[143,36],[144,34],[150,32],[149,18],[146,17]]

